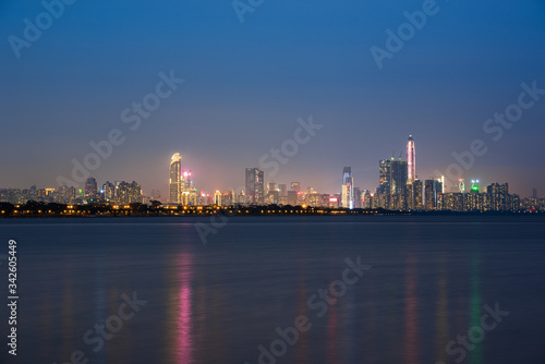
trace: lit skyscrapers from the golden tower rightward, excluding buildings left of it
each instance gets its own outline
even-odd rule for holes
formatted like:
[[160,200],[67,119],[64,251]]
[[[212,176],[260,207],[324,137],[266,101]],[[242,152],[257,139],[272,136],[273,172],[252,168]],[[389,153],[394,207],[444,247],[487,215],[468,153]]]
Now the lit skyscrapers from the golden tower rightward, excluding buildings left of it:
[[[412,135],[407,142],[407,160],[382,159],[378,162],[378,186],[372,193],[354,186],[351,167],[342,169],[340,193],[324,194],[312,187],[302,189],[300,182],[288,184],[265,180],[264,171],[246,168],[245,190],[235,193],[216,191],[213,195],[196,192],[191,183],[191,171],[181,170],[180,155],[174,155],[170,165],[170,199],[177,205],[214,204],[232,205],[305,205],[327,208],[384,208],[398,211],[449,210],[449,211],[519,211],[521,209],[544,210],[543,199],[534,196],[531,203],[509,194],[507,183],[493,183],[480,191],[480,182],[472,180],[465,189],[461,179],[457,191],[447,192],[445,178],[436,177],[421,181],[416,175],[416,154]],[[534,194],[536,192],[534,191]],[[201,199],[199,199],[201,198]],[[204,198],[204,201],[203,201]]]

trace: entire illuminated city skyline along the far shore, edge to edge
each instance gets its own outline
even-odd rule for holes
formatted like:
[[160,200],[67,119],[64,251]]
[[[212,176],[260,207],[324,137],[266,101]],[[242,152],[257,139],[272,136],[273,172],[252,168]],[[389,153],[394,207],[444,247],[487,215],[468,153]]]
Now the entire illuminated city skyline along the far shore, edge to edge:
[[[136,182],[116,181],[98,185],[95,178],[88,178],[84,189],[60,186],[57,189],[27,190],[0,189],[0,202],[24,204],[27,201],[61,204],[105,203],[110,205],[129,205],[159,201],[171,206],[304,206],[325,208],[384,208],[396,211],[544,211],[545,199],[533,196],[520,199],[509,193],[509,185],[492,183],[481,191],[479,180],[465,183],[459,180],[458,185],[447,191],[444,177],[421,181],[416,175],[416,154],[412,136],[407,142],[407,160],[380,159],[378,161],[378,186],[374,192],[354,186],[352,168],[342,169],[340,190],[336,194],[325,194],[313,187],[303,189],[300,182],[282,184],[266,182],[264,171],[258,168],[245,169],[244,190],[235,192],[216,191],[206,194],[193,183],[192,172],[182,169],[182,157],[174,154],[169,165],[168,197],[161,199],[159,191],[144,195]],[[455,191],[453,191],[455,190]]]

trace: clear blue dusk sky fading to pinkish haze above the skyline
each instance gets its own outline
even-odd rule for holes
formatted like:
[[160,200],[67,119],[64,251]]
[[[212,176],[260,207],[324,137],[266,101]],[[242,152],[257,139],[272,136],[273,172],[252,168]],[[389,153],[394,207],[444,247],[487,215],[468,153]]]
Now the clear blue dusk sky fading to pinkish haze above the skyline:
[[[545,95],[497,142],[483,125],[518,102],[521,83],[545,89],[545,2],[437,1],[379,69],[370,49],[386,50],[386,31],[425,2],[265,0],[241,23],[229,0],[78,0],[48,26],[40,1],[3,0],[0,187],[55,187],[113,129],[125,139],[92,171],[99,183],[135,180],[166,195],[180,153],[201,189],[238,187],[312,116],[323,128],[275,182],[338,193],[351,166],[355,185],[374,191],[378,160],[397,158],[412,134],[422,180],[482,139],[488,150],[467,180],[543,196]],[[41,35],[17,58],[10,36],[27,41],[24,20],[37,16]],[[132,131],[121,112],[171,70],[184,83]]]

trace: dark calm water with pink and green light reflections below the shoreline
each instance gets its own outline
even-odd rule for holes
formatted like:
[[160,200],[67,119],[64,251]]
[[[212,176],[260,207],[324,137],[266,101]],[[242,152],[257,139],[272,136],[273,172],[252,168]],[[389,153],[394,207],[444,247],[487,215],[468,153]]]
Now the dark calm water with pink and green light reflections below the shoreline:
[[206,245],[195,221],[0,220],[0,362],[545,363],[544,218],[231,218]]

